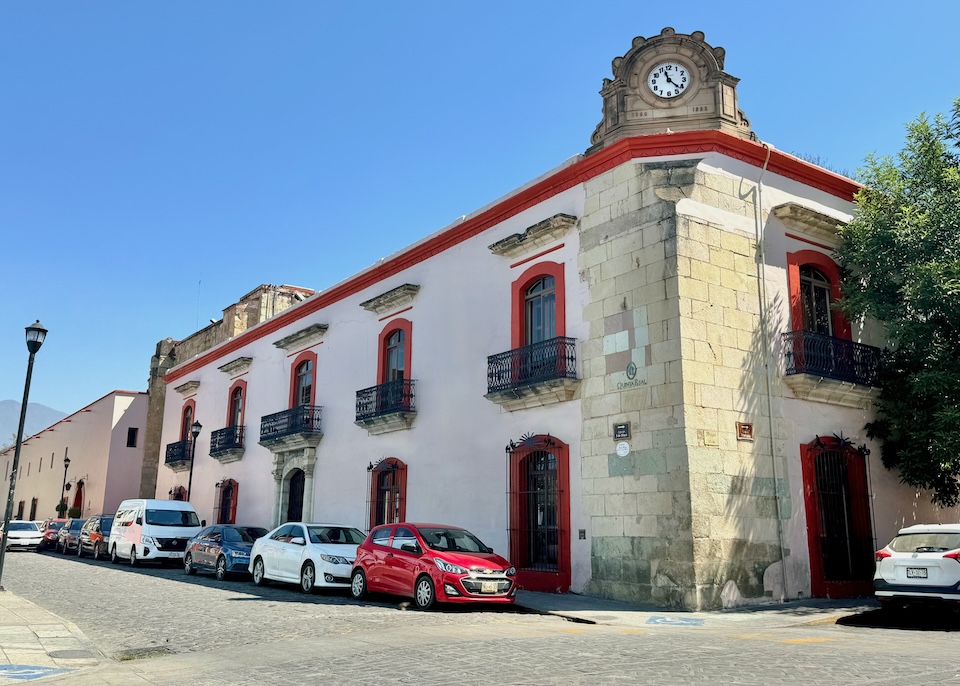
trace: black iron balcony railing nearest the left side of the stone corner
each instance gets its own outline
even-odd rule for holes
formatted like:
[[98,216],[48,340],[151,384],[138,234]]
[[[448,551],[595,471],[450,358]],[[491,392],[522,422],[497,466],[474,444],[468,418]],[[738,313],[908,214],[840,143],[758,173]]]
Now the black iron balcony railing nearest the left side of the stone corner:
[[577,339],[558,336],[487,358],[487,392],[577,378]]

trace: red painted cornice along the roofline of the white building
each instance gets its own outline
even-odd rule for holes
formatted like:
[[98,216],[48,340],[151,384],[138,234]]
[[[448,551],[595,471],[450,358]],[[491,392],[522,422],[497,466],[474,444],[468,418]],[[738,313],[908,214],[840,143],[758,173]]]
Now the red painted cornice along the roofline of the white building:
[[[584,157],[582,160],[560,169],[555,174],[538,181],[503,202],[484,210],[476,216],[451,227],[433,238],[415,245],[396,257],[384,261],[333,288],[311,296],[302,305],[285,310],[273,319],[248,329],[220,347],[199,355],[196,359],[173,370],[164,381],[171,383],[191,372],[220,359],[249,343],[289,326],[298,319],[329,307],[335,302],[359,293],[384,279],[408,269],[424,260],[438,255],[487,229],[538,205],[565,190],[610,171],[630,160],[646,157],[669,157],[720,153],[755,167],[762,167],[767,159],[768,148],[762,143],[743,140],[722,131],[685,131],[653,136],[624,138]],[[807,186],[817,188],[844,200],[852,201],[860,186],[853,181],[804,162],[792,155],[769,149],[770,161],[767,170],[785,176]]]

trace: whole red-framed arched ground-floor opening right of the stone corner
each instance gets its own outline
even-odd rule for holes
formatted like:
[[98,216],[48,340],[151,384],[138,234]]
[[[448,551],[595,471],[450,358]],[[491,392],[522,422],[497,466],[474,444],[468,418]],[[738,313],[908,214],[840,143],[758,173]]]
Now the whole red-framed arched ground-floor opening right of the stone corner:
[[873,525],[866,456],[846,439],[800,446],[810,555],[810,592],[845,598],[873,591]]

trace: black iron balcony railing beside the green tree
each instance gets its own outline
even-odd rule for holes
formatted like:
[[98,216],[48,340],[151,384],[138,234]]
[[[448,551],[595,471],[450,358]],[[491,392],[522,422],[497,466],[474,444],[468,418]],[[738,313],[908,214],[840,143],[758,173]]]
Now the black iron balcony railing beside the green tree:
[[815,374],[875,386],[880,349],[812,331],[783,334],[786,374]]

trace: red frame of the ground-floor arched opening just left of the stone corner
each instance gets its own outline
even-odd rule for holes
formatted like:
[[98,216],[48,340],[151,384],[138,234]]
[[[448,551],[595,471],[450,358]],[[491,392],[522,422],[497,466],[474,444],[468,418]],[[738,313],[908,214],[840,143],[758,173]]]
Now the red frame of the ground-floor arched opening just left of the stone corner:
[[[532,453],[544,451],[557,460],[557,566],[556,572],[523,569],[520,531],[524,526],[526,508],[523,506],[524,459]],[[508,470],[510,494],[508,521],[510,527],[510,559],[517,566],[517,584],[527,591],[566,593],[570,590],[570,448],[552,436],[533,436],[524,440],[509,453]]]

